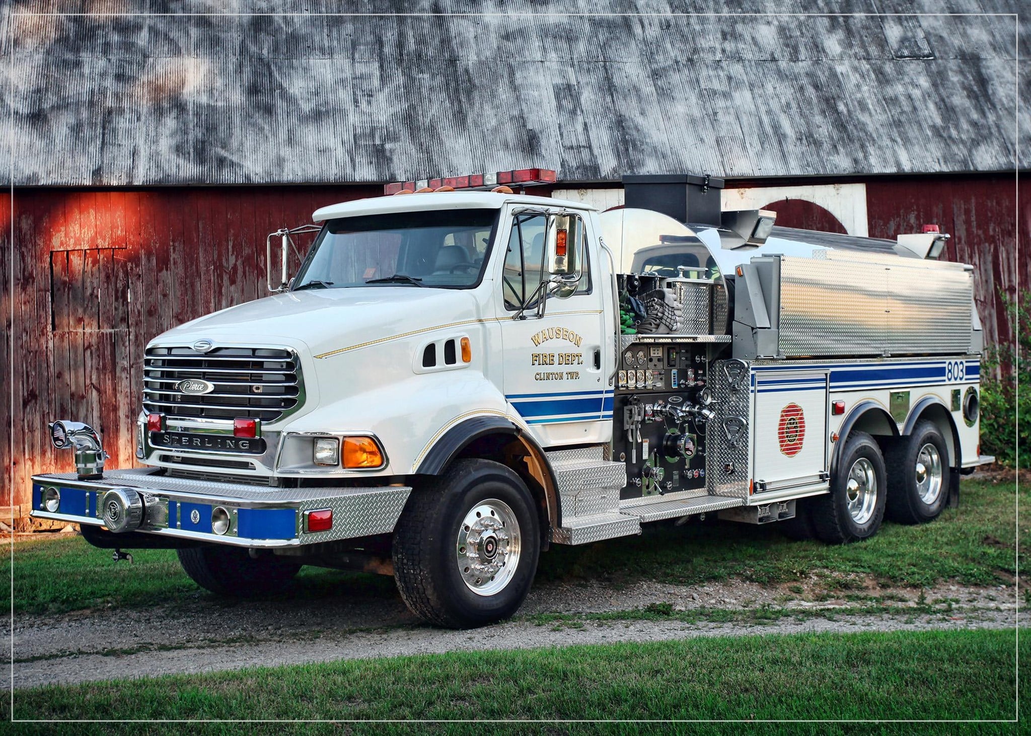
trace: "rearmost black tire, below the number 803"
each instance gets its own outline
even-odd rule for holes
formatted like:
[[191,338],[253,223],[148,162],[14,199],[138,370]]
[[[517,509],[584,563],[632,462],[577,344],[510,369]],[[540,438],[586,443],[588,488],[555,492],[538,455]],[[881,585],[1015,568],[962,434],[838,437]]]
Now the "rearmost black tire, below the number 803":
[[[933,450],[924,451],[927,445]],[[925,524],[937,518],[949,505],[949,483],[952,481],[949,445],[937,426],[926,420],[918,422],[909,436],[892,442],[885,460],[889,468],[888,517],[900,524]],[[924,482],[918,480],[918,463],[925,473]],[[935,475],[938,480],[936,495]]]

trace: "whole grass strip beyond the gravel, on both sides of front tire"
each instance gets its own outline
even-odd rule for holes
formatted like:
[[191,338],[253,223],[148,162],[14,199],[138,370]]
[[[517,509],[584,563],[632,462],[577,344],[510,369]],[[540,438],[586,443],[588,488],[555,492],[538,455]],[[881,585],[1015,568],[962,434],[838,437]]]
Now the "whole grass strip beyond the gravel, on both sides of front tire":
[[[697,583],[738,577],[760,583],[796,583],[808,581],[818,571],[825,589],[835,593],[862,583],[849,577],[853,574],[911,587],[942,580],[972,586],[1011,583],[1016,572],[1012,484],[978,478],[965,480],[962,488],[960,508],[946,510],[933,524],[886,524],[876,537],[860,544],[794,541],[775,524],[652,525],[638,537],[577,547],[554,545],[541,557],[537,580]],[[1031,492],[1025,486],[1021,493],[1027,507],[1023,518],[1029,520]],[[1031,538],[1031,526],[1022,532]],[[60,613],[217,600],[186,576],[173,551],[144,549],[133,555],[133,564],[115,564],[109,550],[95,549],[80,537],[20,542],[14,546],[14,609]],[[9,562],[5,556],[3,563]],[[389,577],[305,568],[289,597],[329,603],[334,597],[357,593],[397,596]],[[3,606],[7,605],[5,599]]]

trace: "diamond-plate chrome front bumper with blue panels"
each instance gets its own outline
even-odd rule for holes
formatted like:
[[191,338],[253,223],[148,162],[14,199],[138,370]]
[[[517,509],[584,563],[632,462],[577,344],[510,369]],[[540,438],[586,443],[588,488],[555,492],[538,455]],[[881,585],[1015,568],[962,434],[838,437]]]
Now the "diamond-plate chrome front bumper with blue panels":
[[[75,473],[33,475],[32,515],[104,526],[104,495],[132,489],[147,499],[142,525],[132,531],[217,544],[286,547],[392,532],[411,493],[406,486],[280,489],[173,478],[158,472],[157,468],[110,470],[97,480],[79,480]],[[55,489],[59,499],[51,511],[46,492],[53,500]],[[218,507],[231,518],[224,534],[212,531],[211,513]],[[332,528],[308,532],[305,512],[322,509],[332,509]]]

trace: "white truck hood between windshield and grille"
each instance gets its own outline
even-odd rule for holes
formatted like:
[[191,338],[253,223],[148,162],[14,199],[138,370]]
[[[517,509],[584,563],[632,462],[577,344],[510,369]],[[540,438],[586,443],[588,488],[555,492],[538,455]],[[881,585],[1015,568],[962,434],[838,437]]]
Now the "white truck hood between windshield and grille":
[[388,337],[437,325],[474,320],[469,292],[418,287],[367,287],[288,292],[193,320],[156,341],[190,344],[213,338],[247,344],[303,342],[312,354],[346,347],[370,336]]

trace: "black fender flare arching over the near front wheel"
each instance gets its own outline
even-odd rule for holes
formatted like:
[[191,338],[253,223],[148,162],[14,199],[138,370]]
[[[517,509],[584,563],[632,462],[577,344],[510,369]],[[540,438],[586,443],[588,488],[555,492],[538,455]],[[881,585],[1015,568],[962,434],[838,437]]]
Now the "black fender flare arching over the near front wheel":
[[[553,526],[561,526],[561,509],[558,501],[558,481],[547,456],[537,441],[511,421],[503,416],[473,416],[459,422],[444,432],[415,469],[419,475],[439,475],[460,456],[463,449],[480,437],[488,435],[509,435],[523,445],[531,459],[531,473],[543,487],[547,518]],[[535,471],[535,472],[534,472]],[[546,530],[545,530],[546,531]]]

